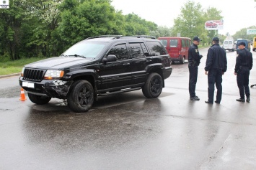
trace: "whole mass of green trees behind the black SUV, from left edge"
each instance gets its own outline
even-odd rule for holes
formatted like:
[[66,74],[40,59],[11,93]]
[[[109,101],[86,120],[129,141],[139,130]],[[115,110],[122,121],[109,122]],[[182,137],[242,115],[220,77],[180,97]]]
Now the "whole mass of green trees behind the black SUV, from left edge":
[[101,34],[149,34],[157,25],[123,15],[111,0],[13,0],[0,10],[0,59],[52,57]]

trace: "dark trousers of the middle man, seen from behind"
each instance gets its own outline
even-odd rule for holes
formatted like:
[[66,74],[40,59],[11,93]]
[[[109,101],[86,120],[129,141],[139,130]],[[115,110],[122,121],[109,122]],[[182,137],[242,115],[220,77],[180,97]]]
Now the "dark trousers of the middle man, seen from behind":
[[222,95],[222,70],[211,69],[208,70],[208,102],[213,103],[214,84],[217,88],[216,101],[221,102]]

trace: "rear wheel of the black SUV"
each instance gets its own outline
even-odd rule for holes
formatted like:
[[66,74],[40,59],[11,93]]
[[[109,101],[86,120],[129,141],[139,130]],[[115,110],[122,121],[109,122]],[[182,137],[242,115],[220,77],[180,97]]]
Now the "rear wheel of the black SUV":
[[142,87],[142,93],[146,98],[157,98],[162,93],[163,85],[162,77],[158,73],[153,72]]

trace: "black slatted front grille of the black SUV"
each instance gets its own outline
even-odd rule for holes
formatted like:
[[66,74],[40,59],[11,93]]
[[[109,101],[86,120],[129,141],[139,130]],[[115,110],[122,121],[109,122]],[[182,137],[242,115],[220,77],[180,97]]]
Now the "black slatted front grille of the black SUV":
[[45,70],[27,69],[26,68],[24,70],[23,80],[40,82],[43,80],[44,74],[45,74]]

